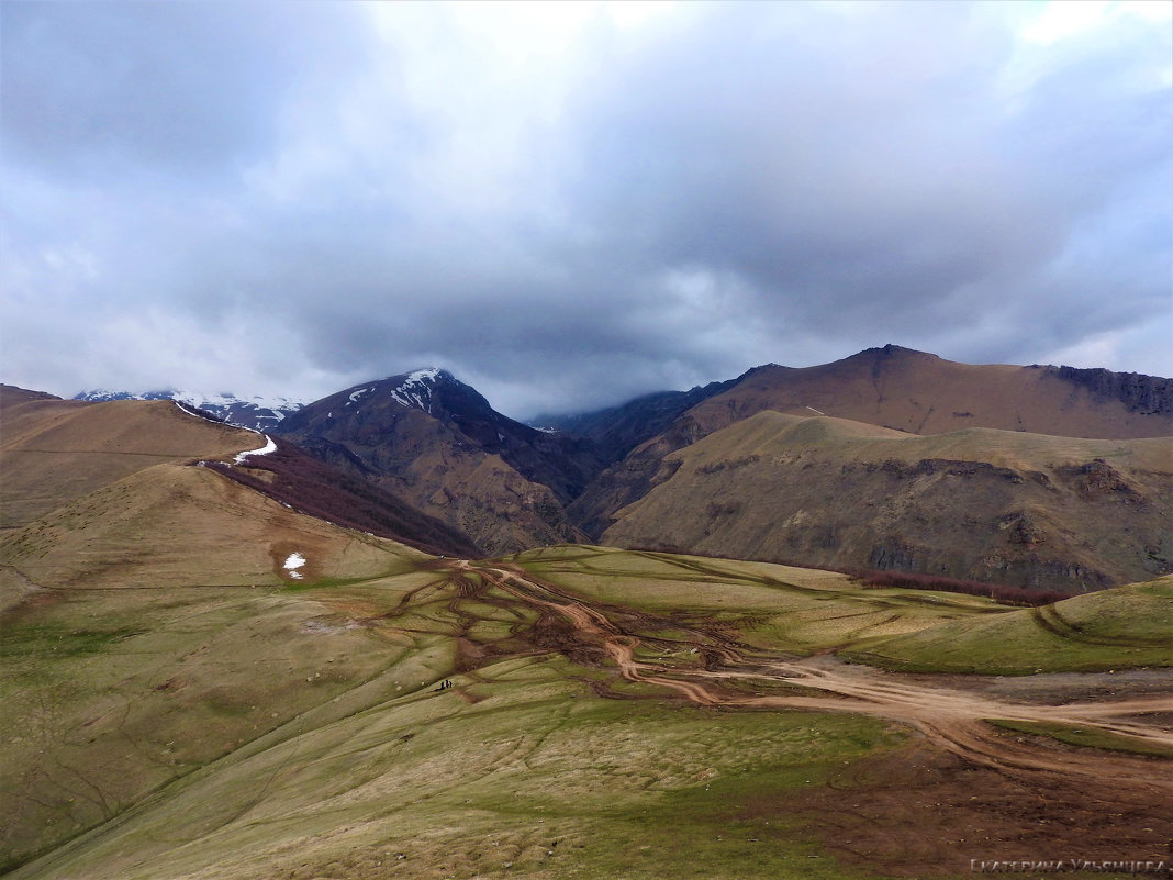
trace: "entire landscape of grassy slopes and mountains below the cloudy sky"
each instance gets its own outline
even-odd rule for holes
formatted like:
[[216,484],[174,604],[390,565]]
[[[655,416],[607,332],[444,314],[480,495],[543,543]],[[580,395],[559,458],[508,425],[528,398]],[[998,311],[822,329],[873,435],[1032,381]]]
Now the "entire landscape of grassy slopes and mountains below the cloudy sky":
[[0,873],[1155,864],[1167,388],[884,348],[543,429],[422,370],[260,433],[0,386]]

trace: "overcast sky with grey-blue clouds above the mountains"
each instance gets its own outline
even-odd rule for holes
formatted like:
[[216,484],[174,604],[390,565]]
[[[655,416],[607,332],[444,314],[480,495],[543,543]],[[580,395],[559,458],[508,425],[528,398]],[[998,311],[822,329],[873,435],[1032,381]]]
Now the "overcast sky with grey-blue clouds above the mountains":
[[0,380],[1173,377],[1173,2],[0,4]]

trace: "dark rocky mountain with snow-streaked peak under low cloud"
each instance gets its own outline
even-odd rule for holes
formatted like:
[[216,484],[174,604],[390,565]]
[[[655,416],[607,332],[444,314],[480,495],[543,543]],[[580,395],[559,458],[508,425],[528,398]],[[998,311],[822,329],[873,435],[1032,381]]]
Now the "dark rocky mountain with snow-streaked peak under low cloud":
[[495,412],[443,370],[420,370],[310,404],[282,434],[407,499],[484,553],[579,539],[563,505],[598,465],[590,441]]

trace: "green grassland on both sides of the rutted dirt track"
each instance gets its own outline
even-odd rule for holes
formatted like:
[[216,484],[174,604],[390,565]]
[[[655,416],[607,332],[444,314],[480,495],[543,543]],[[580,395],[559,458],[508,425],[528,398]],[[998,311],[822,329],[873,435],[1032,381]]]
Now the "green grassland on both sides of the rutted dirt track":
[[[882,876],[887,862],[833,857],[812,815],[883,761],[896,778],[923,761],[908,729],[697,708],[621,681],[489,573],[516,567],[603,609],[680,669],[700,661],[672,639],[701,631],[748,651],[875,651],[1030,614],[764,563],[556,547],[460,568],[394,547],[385,574],[339,554],[307,581],[257,589],[219,575],[149,589],[9,581],[11,876]],[[1079,608],[1114,621],[1101,641],[1132,637],[1130,611],[1151,617],[1167,591]],[[1105,661],[1100,648],[1078,642],[1058,664]],[[446,678],[456,686],[438,690]],[[964,860],[943,872],[968,875]]]

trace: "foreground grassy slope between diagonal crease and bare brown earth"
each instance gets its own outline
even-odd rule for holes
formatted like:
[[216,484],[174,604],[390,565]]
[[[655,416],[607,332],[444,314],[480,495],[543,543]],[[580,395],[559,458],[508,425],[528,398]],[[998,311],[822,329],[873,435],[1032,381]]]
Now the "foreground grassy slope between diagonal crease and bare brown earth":
[[568,671],[495,664],[470,703],[388,670],[16,876],[852,875],[730,814],[894,747],[882,723],[598,700]]

